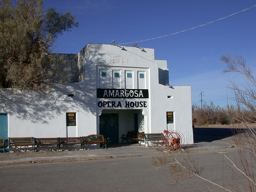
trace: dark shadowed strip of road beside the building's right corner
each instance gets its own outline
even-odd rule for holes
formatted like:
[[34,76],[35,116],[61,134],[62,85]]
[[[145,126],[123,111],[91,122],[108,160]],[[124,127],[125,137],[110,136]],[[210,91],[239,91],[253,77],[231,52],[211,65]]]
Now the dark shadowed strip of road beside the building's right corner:
[[238,134],[240,131],[238,129],[230,128],[193,128],[194,134],[194,143],[197,142],[212,142],[215,140],[220,140],[235,134]]

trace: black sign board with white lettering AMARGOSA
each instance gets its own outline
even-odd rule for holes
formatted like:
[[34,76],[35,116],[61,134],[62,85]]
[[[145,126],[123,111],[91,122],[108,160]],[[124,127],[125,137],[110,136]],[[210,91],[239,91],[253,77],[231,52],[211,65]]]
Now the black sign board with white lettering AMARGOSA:
[[97,89],[97,98],[148,98],[148,89]]

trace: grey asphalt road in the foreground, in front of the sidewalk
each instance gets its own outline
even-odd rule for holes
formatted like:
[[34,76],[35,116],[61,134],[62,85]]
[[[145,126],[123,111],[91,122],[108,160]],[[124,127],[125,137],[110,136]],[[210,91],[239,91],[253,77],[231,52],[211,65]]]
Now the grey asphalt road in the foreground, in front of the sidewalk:
[[[230,188],[232,171],[223,162],[224,154],[233,157],[235,150],[207,150],[192,154],[192,157],[199,167],[204,167],[200,176]],[[180,180],[180,184],[172,186],[168,166],[156,168],[151,164],[152,158],[153,156],[140,156],[2,166],[0,189],[1,192],[221,191],[196,177]]]

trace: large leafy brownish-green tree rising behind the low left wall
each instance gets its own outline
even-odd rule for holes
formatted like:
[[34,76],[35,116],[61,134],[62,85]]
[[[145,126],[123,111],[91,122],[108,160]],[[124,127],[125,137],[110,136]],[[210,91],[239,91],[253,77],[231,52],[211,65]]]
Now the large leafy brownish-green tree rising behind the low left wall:
[[58,36],[78,27],[75,17],[54,8],[44,12],[43,0],[15,3],[0,0],[0,87],[40,92],[64,82],[64,60],[52,48]]

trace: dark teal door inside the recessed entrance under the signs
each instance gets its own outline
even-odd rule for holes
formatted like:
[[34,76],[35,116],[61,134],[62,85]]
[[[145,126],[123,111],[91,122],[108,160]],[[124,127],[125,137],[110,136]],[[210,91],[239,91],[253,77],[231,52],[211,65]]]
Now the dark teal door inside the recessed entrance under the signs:
[[101,114],[100,115],[100,135],[109,138],[111,143],[118,143],[118,114]]

